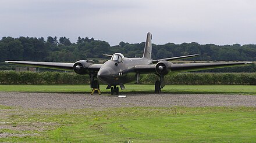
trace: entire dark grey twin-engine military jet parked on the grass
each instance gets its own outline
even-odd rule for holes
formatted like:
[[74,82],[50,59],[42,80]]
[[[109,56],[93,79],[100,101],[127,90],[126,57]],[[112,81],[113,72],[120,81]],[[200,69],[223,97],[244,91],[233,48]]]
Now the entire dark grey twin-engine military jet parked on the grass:
[[125,83],[139,81],[140,74],[156,74],[159,80],[155,82],[155,93],[160,93],[164,85],[164,76],[174,72],[198,71],[202,69],[213,69],[223,67],[233,67],[237,65],[251,64],[251,62],[230,62],[230,63],[190,63],[190,64],[173,64],[170,61],[183,58],[198,56],[191,54],[180,57],[162,58],[152,60],[152,35],[149,32],[145,42],[143,57],[128,58],[122,53],[113,55],[104,54],[111,57],[111,60],[104,64],[94,64],[92,60],[80,60],[76,63],[50,63],[37,61],[5,61],[10,64],[26,65],[31,67],[42,67],[51,69],[61,69],[74,71],[76,74],[90,75],[91,88],[99,89],[99,82],[108,85],[106,89],[111,89],[111,94],[119,94],[119,87],[125,89]]

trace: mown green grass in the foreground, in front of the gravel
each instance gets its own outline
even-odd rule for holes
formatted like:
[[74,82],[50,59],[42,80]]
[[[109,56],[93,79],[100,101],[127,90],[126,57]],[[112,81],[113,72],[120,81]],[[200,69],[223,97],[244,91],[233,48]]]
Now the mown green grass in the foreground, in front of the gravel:
[[[9,109],[2,122],[16,127],[52,124],[44,131],[7,130],[33,134],[0,138],[0,142],[254,142],[256,108],[171,107],[106,109]],[[1,123],[2,124],[2,123]],[[0,124],[0,126],[1,126]],[[47,128],[40,125],[37,128]]]

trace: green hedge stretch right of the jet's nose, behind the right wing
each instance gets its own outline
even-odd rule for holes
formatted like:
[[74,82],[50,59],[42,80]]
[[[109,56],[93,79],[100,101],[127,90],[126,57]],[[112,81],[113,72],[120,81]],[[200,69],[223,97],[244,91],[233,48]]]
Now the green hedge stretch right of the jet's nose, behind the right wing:
[[[141,83],[154,84],[157,75],[148,74]],[[165,76],[166,85],[256,85],[256,73],[180,73]]]

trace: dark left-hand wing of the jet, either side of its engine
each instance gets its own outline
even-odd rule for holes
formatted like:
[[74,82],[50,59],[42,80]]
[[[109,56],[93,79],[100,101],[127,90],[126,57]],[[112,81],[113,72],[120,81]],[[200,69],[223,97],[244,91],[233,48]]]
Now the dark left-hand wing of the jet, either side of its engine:
[[[29,67],[40,67],[40,68],[50,68],[59,69],[65,71],[73,71],[74,63],[52,63],[52,62],[39,62],[39,61],[5,61],[5,63],[25,65]],[[89,70],[98,71],[102,64],[92,64],[88,67]]]

